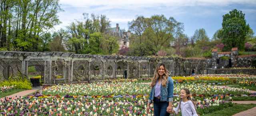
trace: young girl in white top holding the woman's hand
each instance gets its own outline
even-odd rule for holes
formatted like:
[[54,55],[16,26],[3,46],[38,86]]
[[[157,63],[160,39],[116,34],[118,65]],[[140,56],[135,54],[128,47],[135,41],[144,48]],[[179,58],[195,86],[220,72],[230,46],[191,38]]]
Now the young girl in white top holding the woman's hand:
[[181,110],[182,116],[198,116],[196,113],[196,107],[189,94],[190,91],[187,88],[182,88],[180,90],[180,103],[174,110],[172,110],[172,113],[178,114],[179,110]]

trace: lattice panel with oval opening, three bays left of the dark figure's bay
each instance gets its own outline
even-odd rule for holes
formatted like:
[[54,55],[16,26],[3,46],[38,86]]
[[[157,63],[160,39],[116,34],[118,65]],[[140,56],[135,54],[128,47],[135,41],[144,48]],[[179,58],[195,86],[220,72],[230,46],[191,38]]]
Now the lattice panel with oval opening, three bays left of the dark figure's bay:
[[73,62],[73,82],[89,80],[89,62],[76,60]]

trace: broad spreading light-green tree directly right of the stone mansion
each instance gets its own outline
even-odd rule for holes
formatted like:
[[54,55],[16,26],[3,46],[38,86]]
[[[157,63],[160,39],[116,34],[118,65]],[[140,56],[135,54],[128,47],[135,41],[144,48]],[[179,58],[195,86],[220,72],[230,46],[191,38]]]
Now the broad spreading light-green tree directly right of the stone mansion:
[[130,53],[132,56],[156,55],[160,50],[170,51],[170,42],[174,34],[182,33],[183,25],[174,18],[164,15],[154,15],[150,18],[138,16],[128,23],[129,29],[134,32],[130,37]]

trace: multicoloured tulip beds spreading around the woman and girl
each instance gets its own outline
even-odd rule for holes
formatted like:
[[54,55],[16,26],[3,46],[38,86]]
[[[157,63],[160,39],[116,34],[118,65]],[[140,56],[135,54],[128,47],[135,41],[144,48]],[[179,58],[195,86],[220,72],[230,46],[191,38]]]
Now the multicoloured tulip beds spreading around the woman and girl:
[[[225,79],[227,78],[223,80]],[[150,93],[149,83],[139,81],[139,79],[120,79],[88,84],[54,85],[17,100],[1,99],[0,115],[152,116],[154,111],[152,105],[151,114],[146,113],[146,101]],[[242,88],[175,83],[174,106],[178,105],[178,92],[181,88],[190,89],[200,115],[232,107],[233,98],[256,96],[250,94],[248,89]]]

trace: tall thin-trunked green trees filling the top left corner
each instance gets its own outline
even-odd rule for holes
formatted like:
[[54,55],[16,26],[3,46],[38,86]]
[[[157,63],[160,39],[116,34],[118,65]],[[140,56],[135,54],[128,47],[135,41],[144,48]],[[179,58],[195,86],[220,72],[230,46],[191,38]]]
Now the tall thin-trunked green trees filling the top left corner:
[[49,51],[44,33],[60,24],[59,0],[5,0],[0,2],[0,47],[9,51]]

